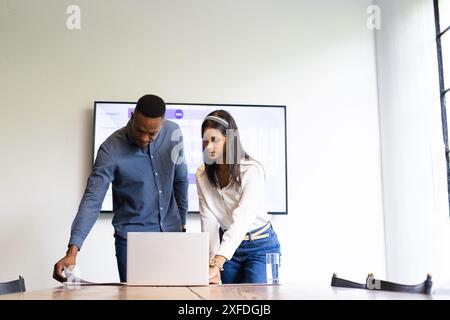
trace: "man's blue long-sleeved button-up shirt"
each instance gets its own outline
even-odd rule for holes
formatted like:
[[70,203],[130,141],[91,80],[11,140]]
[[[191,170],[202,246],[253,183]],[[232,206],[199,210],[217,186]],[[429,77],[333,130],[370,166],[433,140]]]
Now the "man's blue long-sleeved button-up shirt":
[[100,146],[72,223],[70,244],[81,249],[112,183],[115,233],[181,231],[188,210],[187,166],[179,126],[165,120],[147,148],[133,143],[131,123]]

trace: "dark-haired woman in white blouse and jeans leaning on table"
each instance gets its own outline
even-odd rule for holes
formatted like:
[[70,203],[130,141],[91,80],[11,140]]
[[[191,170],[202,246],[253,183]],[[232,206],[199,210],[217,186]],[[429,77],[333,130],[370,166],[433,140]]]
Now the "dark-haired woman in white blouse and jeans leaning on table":
[[244,151],[228,112],[210,113],[202,136],[197,191],[202,231],[209,233],[209,281],[264,283],[266,253],[280,252],[265,208],[264,169]]

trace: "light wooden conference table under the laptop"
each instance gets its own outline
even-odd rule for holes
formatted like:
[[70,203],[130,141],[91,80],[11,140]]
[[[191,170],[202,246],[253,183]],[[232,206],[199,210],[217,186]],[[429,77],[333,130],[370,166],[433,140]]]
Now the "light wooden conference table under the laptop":
[[306,284],[216,285],[205,287],[131,287],[125,285],[60,286],[1,295],[0,300],[385,300],[450,299],[448,294],[408,294],[317,287]]

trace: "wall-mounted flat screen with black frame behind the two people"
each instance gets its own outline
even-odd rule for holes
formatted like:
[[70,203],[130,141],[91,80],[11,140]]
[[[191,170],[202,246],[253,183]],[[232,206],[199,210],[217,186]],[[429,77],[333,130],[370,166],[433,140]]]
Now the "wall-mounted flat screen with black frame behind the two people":
[[[100,145],[114,131],[124,127],[136,102],[96,101],[94,106],[93,162]],[[258,160],[266,174],[267,211],[287,214],[286,107],[272,105],[229,105],[167,103],[167,120],[178,123],[184,138],[189,172],[189,212],[198,212],[195,173],[203,162],[201,124],[206,115],[223,109],[236,120],[246,152]],[[106,193],[102,212],[113,212],[112,187]]]

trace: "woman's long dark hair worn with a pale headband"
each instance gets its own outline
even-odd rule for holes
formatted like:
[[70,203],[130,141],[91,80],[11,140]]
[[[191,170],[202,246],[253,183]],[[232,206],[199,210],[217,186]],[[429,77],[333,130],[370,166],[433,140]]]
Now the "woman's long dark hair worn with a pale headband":
[[[208,114],[209,116],[215,116],[222,120],[225,120],[228,122],[228,127],[226,127],[224,124],[214,121],[205,119],[202,123],[202,138],[205,134],[205,131],[207,129],[217,129],[219,130],[224,137],[226,137],[226,142],[224,145],[224,156],[226,159],[224,164],[228,166],[228,181],[227,181],[227,188],[232,188],[235,184],[241,185],[241,166],[240,162],[242,159],[250,159],[250,156],[245,152],[244,148],[241,144],[241,139],[239,135],[239,130],[236,125],[236,122],[234,121],[233,117],[224,110],[216,110]],[[205,157],[205,153],[203,150],[203,156]],[[208,181],[215,187],[220,188],[219,178],[217,176],[217,163],[205,163],[205,173],[208,177]]]

